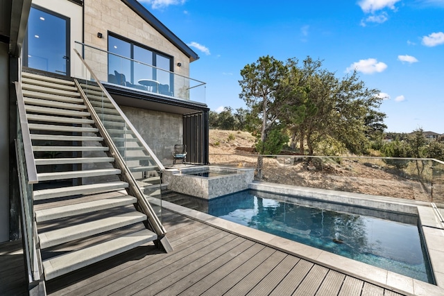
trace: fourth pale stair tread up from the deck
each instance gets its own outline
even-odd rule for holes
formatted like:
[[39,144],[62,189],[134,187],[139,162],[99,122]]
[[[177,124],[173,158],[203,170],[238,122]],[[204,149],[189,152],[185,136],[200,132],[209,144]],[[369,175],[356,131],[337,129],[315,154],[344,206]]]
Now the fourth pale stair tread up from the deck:
[[53,189],[42,189],[34,191],[34,200],[46,200],[51,198],[60,198],[79,194],[94,194],[115,189],[124,189],[128,187],[126,182],[108,182],[99,184],[87,184],[69,187],[59,187]]

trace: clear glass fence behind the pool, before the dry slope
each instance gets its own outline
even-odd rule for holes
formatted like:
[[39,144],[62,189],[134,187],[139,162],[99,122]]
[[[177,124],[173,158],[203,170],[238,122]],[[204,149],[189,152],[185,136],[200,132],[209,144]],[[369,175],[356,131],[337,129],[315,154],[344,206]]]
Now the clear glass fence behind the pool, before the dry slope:
[[256,168],[257,181],[435,202],[444,206],[444,162],[391,157],[210,154],[214,165]]

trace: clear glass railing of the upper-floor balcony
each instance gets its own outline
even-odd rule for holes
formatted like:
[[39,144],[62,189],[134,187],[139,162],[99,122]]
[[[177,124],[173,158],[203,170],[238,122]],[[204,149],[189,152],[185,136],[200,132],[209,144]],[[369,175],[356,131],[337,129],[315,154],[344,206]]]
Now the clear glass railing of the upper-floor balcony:
[[[76,50],[101,82],[165,98],[205,103],[205,82],[76,42]],[[82,65],[78,65],[81,71]],[[74,69],[74,76],[81,75]],[[79,72],[79,73],[78,73]]]

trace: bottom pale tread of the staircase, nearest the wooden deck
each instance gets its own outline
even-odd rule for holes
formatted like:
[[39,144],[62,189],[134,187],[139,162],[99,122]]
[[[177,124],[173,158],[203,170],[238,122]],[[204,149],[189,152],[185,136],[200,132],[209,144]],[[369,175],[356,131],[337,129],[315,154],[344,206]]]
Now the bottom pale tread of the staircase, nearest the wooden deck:
[[157,236],[153,232],[144,229],[133,234],[114,238],[112,241],[106,241],[105,243],[86,247],[82,250],[53,257],[43,261],[45,278],[48,280],[65,275],[68,272],[154,241],[156,238]]

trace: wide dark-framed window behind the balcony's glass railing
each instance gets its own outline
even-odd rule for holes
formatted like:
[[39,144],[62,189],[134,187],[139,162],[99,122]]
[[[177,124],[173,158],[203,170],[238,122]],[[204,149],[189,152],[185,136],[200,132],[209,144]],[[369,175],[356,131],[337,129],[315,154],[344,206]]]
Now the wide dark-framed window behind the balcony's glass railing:
[[109,82],[172,96],[172,57],[115,35],[108,35],[108,51]]

